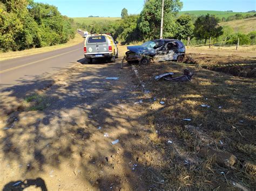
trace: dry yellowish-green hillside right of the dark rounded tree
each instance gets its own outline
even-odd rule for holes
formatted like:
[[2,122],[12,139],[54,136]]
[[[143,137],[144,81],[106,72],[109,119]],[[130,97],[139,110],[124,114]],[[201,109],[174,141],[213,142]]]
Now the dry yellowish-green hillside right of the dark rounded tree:
[[234,32],[250,33],[256,31],[256,17],[241,19],[241,20],[232,20],[229,22],[219,23],[221,26],[230,26],[233,28]]

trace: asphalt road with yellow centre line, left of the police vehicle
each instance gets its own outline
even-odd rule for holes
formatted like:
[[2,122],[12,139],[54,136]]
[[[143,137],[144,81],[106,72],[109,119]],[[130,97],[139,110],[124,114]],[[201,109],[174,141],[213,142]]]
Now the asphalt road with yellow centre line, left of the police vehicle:
[[80,43],[56,51],[1,61],[1,89],[33,80],[38,76],[52,75],[60,69],[72,66],[82,58],[84,58],[83,43]]

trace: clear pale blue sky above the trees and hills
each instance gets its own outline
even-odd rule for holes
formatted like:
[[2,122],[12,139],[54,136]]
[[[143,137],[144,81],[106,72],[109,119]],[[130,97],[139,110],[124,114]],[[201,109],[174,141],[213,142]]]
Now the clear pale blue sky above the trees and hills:
[[[138,14],[144,0],[34,0],[57,6],[62,15],[68,17],[120,17],[123,8],[129,14]],[[247,12],[256,10],[256,0],[181,0],[183,9]]]

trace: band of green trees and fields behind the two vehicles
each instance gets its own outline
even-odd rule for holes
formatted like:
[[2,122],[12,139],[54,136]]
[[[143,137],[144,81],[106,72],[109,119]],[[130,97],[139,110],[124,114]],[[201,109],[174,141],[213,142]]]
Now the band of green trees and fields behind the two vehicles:
[[[179,12],[182,6],[180,1],[166,1],[164,38],[179,39],[184,44],[187,44],[187,39],[190,38],[190,45],[193,46],[207,44],[210,38],[214,46],[233,46],[238,43],[238,38],[239,45],[256,44],[256,29],[253,24],[256,18],[255,12],[240,14],[232,11],[199,11],[192,14]],[[221,15],[224,13],[228,17]],[[151,17],[152,15],[154,17]],[[124,8],[121,16],[121,18],[75,18],[75,21],[79,29],[91,33],[112,33],[114,39],[121,41],[122,44],[138,44],[159,38],[160,1],[147,1],[139,15],[129,15]],[[233,20],[233,23],[223,22],[226,20]],[[238,22],[239,25],[237,25]]]

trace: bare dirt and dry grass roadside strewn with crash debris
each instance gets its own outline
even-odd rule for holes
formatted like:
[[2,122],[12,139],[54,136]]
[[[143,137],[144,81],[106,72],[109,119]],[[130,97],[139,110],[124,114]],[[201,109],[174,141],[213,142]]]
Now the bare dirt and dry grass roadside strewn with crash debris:
[[[17,101],[0,123],[0,188],[256,189],[255,79],[172,62],[120,69],[119,50]],[[193,81],[153,79],[185,68]]]

